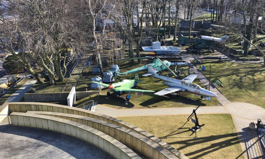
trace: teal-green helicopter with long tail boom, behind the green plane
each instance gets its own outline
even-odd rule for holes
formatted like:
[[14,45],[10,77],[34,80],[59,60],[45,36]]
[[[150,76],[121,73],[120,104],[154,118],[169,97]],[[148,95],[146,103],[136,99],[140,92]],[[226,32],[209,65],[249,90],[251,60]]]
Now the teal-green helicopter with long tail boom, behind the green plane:
[[[163,63],[166,64],[166,66]],[[147,64],[147,65],[132,69],[130,71],[123,72],[123,73],[119,73],[119,72],[116,72],[116,73],[117,74],[121,74],[121,78],[122,78],[122,76],[124,74],[129,74],[129,73],[134,73],[134,72],[146,70],[148,68],[148,65],[151,65],[154,68],[154,70],[164,71],[164,70],[168,69],[168,67],[171,65],[171,62],[169,62],[167,60],[162,60],[161,61],[159,58],[156,58],[156,59],[153,60],[153,63]],[[114,73],[113,71],[109,71],[109,72]]]

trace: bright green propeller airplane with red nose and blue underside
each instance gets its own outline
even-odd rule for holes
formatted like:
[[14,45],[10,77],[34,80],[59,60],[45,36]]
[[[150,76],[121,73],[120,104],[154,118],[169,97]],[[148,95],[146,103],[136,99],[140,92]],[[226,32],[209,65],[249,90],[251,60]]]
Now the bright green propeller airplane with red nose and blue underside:
[[99,83],[99,82],[94,82],[96,84],[99,84],[104,87],[108,87],[108,92],[107,96],[110,96],[110,91],[112,91],[116,96],[118,96],[119,92],[129,92],[129,95],[126,96],[126,100],[129,101],[131,97],[131,92],[154,92],[154,91],[148,91],[148,90],[138,90],[138,89],[132,89],[132,87],[136,86],[138,82],[144,82],[144,81],[139,81],[138,80],[138,74],[135,74],[134,80],[122,80],[121,82],[117,83],[111,83],[110,85],[105,84],[105,83]]

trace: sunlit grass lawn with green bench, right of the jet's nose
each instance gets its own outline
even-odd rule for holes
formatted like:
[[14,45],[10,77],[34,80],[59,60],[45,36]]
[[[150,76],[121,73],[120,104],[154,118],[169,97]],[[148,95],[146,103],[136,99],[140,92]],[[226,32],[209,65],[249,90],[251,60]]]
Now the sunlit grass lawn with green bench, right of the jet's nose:
[[[265,68],[253,63],[219,63],[205,61],[206,69],[211,68],[211,81],[218,78],[223,87],[218,89],[232,102],[246,102],[265,108]],[[209,70],[209,69],[207,69]],[[209,77],[210,71],[203,72]]]

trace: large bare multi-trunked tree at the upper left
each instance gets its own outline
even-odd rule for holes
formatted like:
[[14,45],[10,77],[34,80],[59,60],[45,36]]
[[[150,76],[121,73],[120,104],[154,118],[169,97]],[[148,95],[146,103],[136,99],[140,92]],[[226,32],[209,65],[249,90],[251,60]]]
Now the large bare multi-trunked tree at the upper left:
[[[30,67],[35,61],[47,72],[50,84],[55,84],[55,69],[58,81],[64,81],[61,70],[61,52],[63,47],[80,50],[83,34],[80,34],[78,22],[82,15],[77,13],[80,3],[69,1],[7,0],[5,6],[9,12],[1,25],[2,39],[6,39],[3,48],[11,54],[20,50],[21,65],[37,79],[43,80]],[[75,5],[74,5],[75,4]],[[55,62],[55,67],[53,64]],[[65,71],[65,70],[64,70]]]

